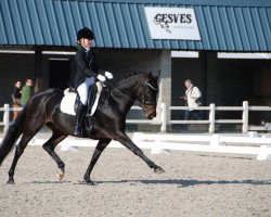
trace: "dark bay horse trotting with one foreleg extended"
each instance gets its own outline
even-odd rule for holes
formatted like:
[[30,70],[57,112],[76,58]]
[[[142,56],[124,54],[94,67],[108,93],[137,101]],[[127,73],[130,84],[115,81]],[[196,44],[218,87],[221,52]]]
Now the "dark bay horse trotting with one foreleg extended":
[[[128,150],[141,157],[155,173],[164,173],[164,169],[149,159],[125,132],[126,116],[136,100],[142,105],[146,118],[152,119],[156,116],[158,77],[159,73],[157,76],[153,76],[151,73],[136,74],[112,85],[109,93],[106,89],[103,90],[98,110],[91,120],[95,131],[95,139],[99,142],[83,176],[86,183],[94,184],[90,179],[90,174],[103,150],[112,140],[120,142]],[[9,128],[0,144],[0,165],[15,148],[16,140],[21,135],[22,139],[16,145],[14,159],[9,170],[8,183],[14,183],[14,171],[18,158],[23,154],[27,143],[44,125],[52,130],[52,137],[42,148],[56,162],[59,167],[56,175],[60,179],[63,178],[65,164],[55,153],[54,149],[67,136],[73,136],[76,122],[75,116],[60,111],[60,103],[63,97],[63,90],[56,89],[48,89],[36,93],[22,111],[17,120]],[[82,132],[82,137],[89,138],[86,130]]]

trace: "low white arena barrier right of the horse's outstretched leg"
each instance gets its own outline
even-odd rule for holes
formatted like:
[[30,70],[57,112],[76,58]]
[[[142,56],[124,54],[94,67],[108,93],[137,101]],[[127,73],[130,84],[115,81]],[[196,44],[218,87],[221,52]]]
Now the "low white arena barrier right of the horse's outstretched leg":
[[134,132],[133,142],[152,146],[152,153],[170,150],[256,155],[257,159],[271,159],[271,138],[258,135],[170,135]]

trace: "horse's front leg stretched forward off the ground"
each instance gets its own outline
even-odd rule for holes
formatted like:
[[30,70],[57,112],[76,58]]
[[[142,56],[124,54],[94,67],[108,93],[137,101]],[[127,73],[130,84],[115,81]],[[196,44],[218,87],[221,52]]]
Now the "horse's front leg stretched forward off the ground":
[[165,171],[162,167],[157,166],[156,164],[154,164],[154,162],[147,158],[142,150],[139,149],[125,132],[119,132],[115,136],[114,139],[124,144],[128,150],[133,152],[140,158],[142,158],[151,168],[154,169],[154,173],[162,174]]

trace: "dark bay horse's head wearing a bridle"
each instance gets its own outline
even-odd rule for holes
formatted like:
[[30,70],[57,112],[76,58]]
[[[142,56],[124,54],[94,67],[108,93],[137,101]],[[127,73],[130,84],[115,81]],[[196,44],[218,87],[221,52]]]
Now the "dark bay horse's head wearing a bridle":
[[141,85],[140,91],[138,91],[137,100],[141,103],[142,108],[145,114],[145,118],[152,119],[156,116],[156,97],[158,93],[158,77],[160,72],[158,72],[157,76],[153,76],[152,73],[146,74],[146,78],[143,79],[143,84]]

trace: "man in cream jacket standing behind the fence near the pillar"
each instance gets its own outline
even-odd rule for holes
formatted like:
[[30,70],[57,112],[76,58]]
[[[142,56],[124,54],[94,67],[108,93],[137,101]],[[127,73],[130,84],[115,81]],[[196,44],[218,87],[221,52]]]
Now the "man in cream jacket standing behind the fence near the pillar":
[[202,105],[202,102],[199,101],[199,98],[202,97],[202,92],[197,87],[195,87],[191,79],[184,80],[184,86],[186,88],[185,90],[185,97],[180,97],[180,99],[186,101],[186,105],[190,107],[184,113],[184,119],[188,120],[192,116],[194,116],[195,119],[201,119],[201,111],[195,110],[199,105]]

